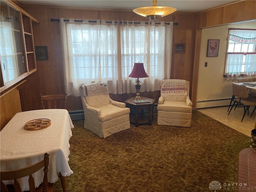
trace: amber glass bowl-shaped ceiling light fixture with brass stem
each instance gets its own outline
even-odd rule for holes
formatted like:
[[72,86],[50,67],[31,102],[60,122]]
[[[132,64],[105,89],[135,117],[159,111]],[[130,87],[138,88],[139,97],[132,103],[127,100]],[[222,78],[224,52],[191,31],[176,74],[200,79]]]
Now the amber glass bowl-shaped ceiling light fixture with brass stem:
[[173,7],[157,6],[156,0],[153,0],[153,6],[136,8],[133,12],[144,17],[149,17],[150,21],[158,21],[158,18],[172,14],[176,10]]

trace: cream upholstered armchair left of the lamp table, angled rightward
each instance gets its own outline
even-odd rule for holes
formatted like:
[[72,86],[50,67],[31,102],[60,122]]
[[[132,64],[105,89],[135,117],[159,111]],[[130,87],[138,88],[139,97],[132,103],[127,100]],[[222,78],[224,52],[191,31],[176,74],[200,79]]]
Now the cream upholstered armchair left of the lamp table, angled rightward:
[[84,127],[100,138],[130,128],[130,109],[125,103],[109,97],[105,83],[81,85],[80,95],[84,108]]

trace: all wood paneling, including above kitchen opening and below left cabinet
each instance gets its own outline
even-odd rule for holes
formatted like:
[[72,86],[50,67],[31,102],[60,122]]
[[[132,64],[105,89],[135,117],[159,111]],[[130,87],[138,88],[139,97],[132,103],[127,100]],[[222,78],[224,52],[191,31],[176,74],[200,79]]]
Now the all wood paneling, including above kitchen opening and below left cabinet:
[[[30,15],[36,18],[40,24],[33,26],[35,46],[47,46],[48,61],[37,61],[37,72],[27,78],[22,92],[22,110],[40,109],[38,94],[60,94],[65,92],[63,84],[63,66],[60,41],[60,29],[58,22],[51,22],[50,18],[76,18],[76,19],[101,19],[101,20],[146,20],[132,11],[124,10],[88,10],[81,8],[63,8],[47,6],[22,6]],[[172,53],[171,76],[170,78],[181,78],[190,81],[190,97],[196,104],[196,92],[198,83],[198,56],[200,53],[200,29],[212,26],[242,22],[256,19],[256,1],[238,1],[224,7],[211,9],[197,14],[186,14],[175,12],[169,16],[160,18],[161,21],[178,22],[174,25],[173,50],[175,43],[186,43],[185,54]],[[6,98],[1,97],[1,128],[2,117],[10,116],[20,111],[20,106],[13,105],[12,100],[17,99],[17,90],[8,93]],[[160,92],[142,93],[142,96],[149,96],[158,99]],[[124,101],[131,95],[111,95],[115,100]],[[4,103],[4,108],[3,108]],[[69,96],[69,111],[82,110],[80,97]],[[8,110],[7,110],[8,109]],[[12,110],[13,109],[13,110]],[[8,118],[7,118],[8,119]],[[8,122],[5,120],[4,122]]]

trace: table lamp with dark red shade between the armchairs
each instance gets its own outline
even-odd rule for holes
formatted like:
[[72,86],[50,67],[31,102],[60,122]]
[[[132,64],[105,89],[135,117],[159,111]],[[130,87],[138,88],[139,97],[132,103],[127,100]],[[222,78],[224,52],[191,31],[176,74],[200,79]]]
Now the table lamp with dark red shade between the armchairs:
[[134,63],[133,69],[131,74],[128,77],[137,78],[135,88],[136,88],[136,97],[134,97],[135,100],[140,100],[140,86],[141,83],[139,81],[139,78],[145,78],[148,77],[148,74],[146,73],[143,63]]

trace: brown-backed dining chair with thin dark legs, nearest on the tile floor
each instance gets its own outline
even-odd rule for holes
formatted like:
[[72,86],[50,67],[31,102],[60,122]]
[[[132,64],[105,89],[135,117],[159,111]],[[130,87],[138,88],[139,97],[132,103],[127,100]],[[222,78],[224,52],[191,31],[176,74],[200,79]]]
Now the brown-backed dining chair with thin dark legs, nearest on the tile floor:
[[[237,106],[237,104],[242,104],[244,106],[244,115],[241,120],[241,122],[242,122],[246,112],[249,114],[250,106],[255,106],[254,110],[252,111],[252,114],[254,113],[254,111],[256,109],[256,98],[249,97],[249,93],[248,93],[245,85],[238,85],[238,84],[235,84],[234,82],[232,83],[232,92],[234,95],[234,103],[232,104],[232,107],[231,107],[230,111],[228,112],[228,114],[230,114],[232,108],[235,105]],[[251,116],[252,116],[252,114],[251,114]]]

